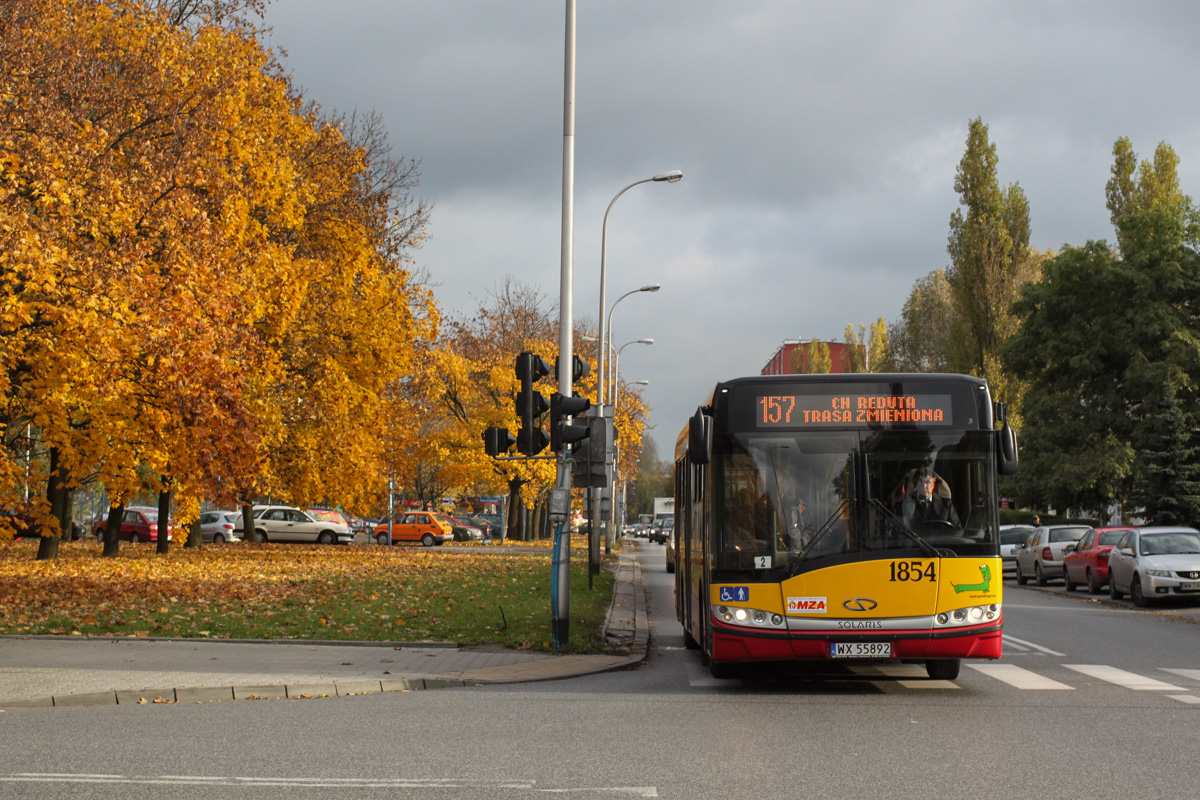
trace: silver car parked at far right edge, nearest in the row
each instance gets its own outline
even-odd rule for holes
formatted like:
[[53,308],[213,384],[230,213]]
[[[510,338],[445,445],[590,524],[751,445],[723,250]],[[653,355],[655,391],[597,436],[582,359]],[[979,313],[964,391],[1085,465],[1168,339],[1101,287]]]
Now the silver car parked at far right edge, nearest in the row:
[[1136,606],[1157,597],[1200,597],[1200,531],[1195,528],[1127,530],[1109,551],[1109,595],[1129,594]]

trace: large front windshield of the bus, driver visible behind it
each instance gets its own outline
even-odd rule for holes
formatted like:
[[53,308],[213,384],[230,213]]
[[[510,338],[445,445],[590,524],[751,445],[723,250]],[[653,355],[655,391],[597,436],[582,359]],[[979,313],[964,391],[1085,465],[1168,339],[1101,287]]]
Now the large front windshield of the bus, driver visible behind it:
[[983,431],[731,433],[713,453],[713,581],[882,558],[997,555]]

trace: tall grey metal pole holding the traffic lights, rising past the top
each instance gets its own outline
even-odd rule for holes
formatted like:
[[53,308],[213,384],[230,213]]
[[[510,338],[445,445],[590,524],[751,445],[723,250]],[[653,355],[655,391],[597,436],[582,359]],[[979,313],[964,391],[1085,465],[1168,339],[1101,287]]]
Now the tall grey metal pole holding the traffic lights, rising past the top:
[[[566,36],[563,67],[563,248],[558,290],[558,393],[571,396],[572,333],[575,329],[571,297],[575,258],[575,0],[566,0]],[[560,461],[558,486],[571,488],[571,470]],[[565,530],[564,530],[565,529]],[[570,640],[571,612],[571,525],[559,523],[554,530],[551,566],[551,639],[556,650]]]

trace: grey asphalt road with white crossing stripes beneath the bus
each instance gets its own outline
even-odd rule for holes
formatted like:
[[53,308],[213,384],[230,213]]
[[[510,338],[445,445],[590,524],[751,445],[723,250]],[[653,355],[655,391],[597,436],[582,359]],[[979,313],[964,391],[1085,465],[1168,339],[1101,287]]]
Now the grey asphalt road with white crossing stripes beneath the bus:
[[[652,652],[566,681],[11,709],[0,798],[1190,798],[1200,627],[1006,585],[1006,654],[718,681],[647,545]],[[548,609],[547,609],[548,613]],[[911,674],[910,674],[911,673]]]

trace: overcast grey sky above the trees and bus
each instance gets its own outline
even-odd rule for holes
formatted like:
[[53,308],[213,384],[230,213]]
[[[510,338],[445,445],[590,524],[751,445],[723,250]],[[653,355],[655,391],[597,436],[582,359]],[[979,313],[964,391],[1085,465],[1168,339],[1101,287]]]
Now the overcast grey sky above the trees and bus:
[[[898,320],[947,266],[954,170],[982,116],[1032,243],[1112,239],[1117,137],[1200,170],[1200,4],[581,0],[576,320],[613,314],[659,452],[718,380],[785,339]],[[448,314],[506,276],[557,303],[564,0],[275,0],[272,47],[329,110],[374,109],[433,203],[416,263]],[[548,390],[547,390],[548,391]]]

